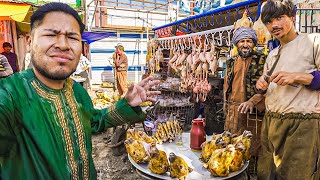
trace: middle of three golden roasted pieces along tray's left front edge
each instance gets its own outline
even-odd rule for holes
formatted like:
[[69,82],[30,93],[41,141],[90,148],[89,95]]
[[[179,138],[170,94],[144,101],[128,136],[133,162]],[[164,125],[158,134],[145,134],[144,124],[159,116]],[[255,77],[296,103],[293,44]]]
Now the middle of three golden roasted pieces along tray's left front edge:
[[155,143],[149,149],[150,161],[148,168],[155,174],[164,174],[169,170],[169,161],[164,151],[158,150]]

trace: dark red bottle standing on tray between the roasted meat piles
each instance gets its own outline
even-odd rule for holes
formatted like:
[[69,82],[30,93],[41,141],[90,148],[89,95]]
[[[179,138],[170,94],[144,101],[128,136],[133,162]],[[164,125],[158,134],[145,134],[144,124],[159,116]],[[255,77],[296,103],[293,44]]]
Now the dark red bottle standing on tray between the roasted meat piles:
[[192,120],[190,131],[190,148],[192,150],[201,150],[201,144],[206,141],[206,132],[204,131],[205,123],[204,118]]

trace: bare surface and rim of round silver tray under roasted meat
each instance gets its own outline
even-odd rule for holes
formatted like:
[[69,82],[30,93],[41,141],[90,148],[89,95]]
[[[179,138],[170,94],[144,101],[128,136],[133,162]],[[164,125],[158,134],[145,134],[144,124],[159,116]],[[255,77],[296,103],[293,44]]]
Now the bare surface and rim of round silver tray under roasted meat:
[[[207,139],[211,139],[210,136],[207,136]],[[244,170],[247,169],[249,165],[249,161],[247,161],[243,168],[239,171],[235,171],[229,174],[227,177],[214,177],[211,173],[203,167],[203,163],[199,160],[200,152],[194,152],[189,148],[190,144],[190,133],[183,133],[182,134],[182,143],[183,145],[176,145],[175,142],[172,143],[163,143],[161,145],[157,144],[157,148],[159,150],[163,150],[166,152],[167,157],[169,156],[170,152],[175,153],[177,156],[182,157],[189,167],[193,169],[191,173],[189,173],[186,177],[187,180],[223,180],[223,179],[230,179],[241,174]],[[148,164],[137,164],[131,156],[128,154],[129,161],[131,164],[137,168],[139,171],[145,173],[148,176],[157,178],[157,179],[165,179],[165,180],[172,180],[174,178],[170,177],[169,172],[159,175],[152,173],[149,168]]]

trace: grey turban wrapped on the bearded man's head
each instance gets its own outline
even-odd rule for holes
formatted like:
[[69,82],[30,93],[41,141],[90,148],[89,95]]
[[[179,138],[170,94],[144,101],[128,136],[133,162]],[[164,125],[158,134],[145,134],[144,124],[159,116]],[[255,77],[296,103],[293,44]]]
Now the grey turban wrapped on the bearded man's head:
[[232,44],[235,46],[241,39],[251,38],[254,44],[257,44],[257,35],[256,32],[249,27],[240,27],[233,31]]

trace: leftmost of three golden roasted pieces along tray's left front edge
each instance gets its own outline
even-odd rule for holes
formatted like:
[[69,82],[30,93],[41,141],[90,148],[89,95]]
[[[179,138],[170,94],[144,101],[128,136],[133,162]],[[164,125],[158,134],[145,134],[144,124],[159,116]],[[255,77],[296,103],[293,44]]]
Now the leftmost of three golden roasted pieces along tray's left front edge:
[[132,138],[124,141],[127,152],[136,163],[147,163],[150,160],[141,141],[133,140]]

